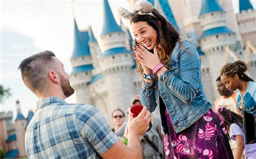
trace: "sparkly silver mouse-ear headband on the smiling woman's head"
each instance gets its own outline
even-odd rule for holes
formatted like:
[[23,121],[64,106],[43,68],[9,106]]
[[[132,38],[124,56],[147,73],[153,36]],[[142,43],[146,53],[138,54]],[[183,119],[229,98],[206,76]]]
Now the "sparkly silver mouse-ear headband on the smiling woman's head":
[[134,5],[133,12],[125,9],[125,8],[119,8],[118,13],[121,17],[124,19],[130,19],[134,15],[150,15],[157,19],[156,16],[153,15],[152,11],[154,10],[153,5],[150,2],[147,2],[145,0],[139,0]]

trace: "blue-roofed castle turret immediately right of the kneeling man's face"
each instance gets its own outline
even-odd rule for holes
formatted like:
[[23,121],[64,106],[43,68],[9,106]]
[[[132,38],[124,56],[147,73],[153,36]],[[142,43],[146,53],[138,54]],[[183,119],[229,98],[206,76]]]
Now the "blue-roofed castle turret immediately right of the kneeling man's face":
[[70,82],[75,89],[77,103],[92,104],[90,100],[89,82],[92,78],[92,59],[88,46],[89,34],[87,31],[79,31],[74,20],[74,48],[71,56],[73,71],[70,74]]

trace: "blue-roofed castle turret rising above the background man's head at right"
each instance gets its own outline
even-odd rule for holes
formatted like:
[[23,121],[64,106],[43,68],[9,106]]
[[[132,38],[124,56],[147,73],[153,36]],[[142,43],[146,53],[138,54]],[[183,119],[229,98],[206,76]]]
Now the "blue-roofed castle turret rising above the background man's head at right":
[[203,0],[199,15],[203,34],[199,38],[201,50],[207,56],[210,68],[211,85],[215,99],[217,93],[215,79],[220,75],[220,69],[224,66],[224,53],[226,46],[232,50],[235,47],[235,33],[227,28],[225,11],[216,0]]

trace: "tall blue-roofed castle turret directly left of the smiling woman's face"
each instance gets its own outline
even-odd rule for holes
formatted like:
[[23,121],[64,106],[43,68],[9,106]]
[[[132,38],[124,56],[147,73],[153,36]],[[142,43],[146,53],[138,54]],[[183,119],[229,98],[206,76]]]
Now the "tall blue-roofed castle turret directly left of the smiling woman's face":
[[132,79],[133,54],[125,48],[125,33],[117,25],[109,3],[104,0],[104,23],[100,42],[103,53],[99,59],[109,98],[109,111],[116,107],[126,110],[136,93]]

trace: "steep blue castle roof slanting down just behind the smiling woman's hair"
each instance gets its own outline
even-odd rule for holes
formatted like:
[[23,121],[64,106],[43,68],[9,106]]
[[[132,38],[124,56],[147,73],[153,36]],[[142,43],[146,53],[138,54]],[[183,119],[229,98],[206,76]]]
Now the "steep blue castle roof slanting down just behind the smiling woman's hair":
[[178,25],[176,23],[176,20],[175,20],[175,18],[173,16],[173,13],[172,13],[172,9],[171,9],[168,1],[167,0],[158,0],[158,2],[160,3],[161,9],[163,9],[163,11],[165,13],[165,16],[166,16],[167,20],[169,20],[170,23],[173,26],[175,26],[175,28],[177,30],[179,30]]

